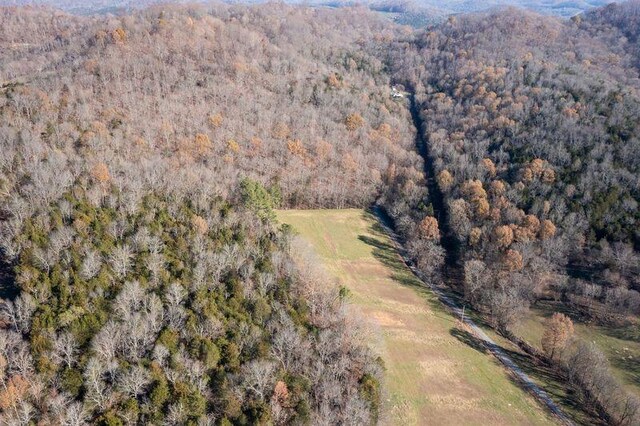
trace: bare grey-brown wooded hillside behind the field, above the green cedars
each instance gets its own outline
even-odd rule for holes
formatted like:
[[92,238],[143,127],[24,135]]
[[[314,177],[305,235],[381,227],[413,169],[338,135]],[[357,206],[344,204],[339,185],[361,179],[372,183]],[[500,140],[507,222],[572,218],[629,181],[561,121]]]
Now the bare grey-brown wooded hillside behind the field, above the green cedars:
[[88,148],[110,133],[110,145],[135,140],[176,166],[209,162],[230,182],[278,184],[285,205],[366,205],[382,172],[419,157],[380,61],[354,49],[383,24],[352,13],[219,6],[51,21],[5,10],[0,75],[28,76],[7,89],[13,103],[63,102],[56,119],[81,129]]

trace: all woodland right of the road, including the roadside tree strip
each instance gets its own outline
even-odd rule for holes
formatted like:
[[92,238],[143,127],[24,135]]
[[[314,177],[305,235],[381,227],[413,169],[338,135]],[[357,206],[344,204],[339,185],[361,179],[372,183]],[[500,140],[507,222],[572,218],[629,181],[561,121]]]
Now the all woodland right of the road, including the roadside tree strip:
[[[540,301],[600,324],[640,313],[637,8],[456,16],[388,49],[447,205],[464,277],[449,282],[519,343],[511,330]],[[607,421],[636,423],[602,353],[563,314],[548,327],[537,355]]]

